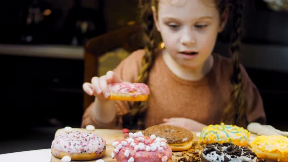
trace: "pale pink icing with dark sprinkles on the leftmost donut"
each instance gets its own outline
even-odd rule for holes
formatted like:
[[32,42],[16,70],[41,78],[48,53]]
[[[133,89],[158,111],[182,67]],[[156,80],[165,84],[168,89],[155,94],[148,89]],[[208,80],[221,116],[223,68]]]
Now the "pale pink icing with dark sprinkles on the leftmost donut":
[[106,149],[106,142],[92,133],[73,132],[57,136],[51,145],[59,152],[96,153],[101,154]]

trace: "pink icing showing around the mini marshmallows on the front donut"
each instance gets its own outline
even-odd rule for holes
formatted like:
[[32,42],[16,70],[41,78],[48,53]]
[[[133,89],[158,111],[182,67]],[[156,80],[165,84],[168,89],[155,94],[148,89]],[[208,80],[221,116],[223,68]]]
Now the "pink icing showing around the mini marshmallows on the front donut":
[[[143,138],[143,143],[145,144],[145,147],[151,146],[151,144],[155,142],[155,139],[150,139],[146,136],[144,136]],[[123,141],[127,141],[127,139],[128,138],[124,139]],[[133,138],[133,140],[136,145],[140,143],[139,137]],[[122,142],[121,140],[116,141],[119,143]],[[161,149],[159,148],[157,148],[155,151],[135,150],[133,146],[127,144],[126,146],[122,145],[122,148],[119,150],[118,153],[113,152],[113,155],[119,162],[128,162],[131,157],[134,158],[134,162],[168,162],[172,158],[172,150],[170,146],[165,143],[164,147],[161,147]],[[124,155],[126,150],[130,152],[128,157]],[[163,159],[165,159],[165,161],[163,161]]]

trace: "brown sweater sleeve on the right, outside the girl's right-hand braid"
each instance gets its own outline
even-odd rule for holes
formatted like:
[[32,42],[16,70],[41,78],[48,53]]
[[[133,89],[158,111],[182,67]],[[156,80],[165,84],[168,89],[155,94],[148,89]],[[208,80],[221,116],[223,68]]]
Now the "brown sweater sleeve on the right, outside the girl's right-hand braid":
[[249,78],[245,68],[241,65],[242,79],[244,83],[244,93],[249,108],[247,113],[248,123],[259,122],[266,123],[266,115],[264,111],[263,101],[256,85]]

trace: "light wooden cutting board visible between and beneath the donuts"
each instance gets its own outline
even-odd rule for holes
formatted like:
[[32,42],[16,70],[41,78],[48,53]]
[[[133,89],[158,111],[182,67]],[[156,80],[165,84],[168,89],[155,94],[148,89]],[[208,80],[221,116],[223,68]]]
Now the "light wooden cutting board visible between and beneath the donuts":
[[[82,129],[82,128],[72,128],[73,132],[79,131],[79,132],[91,132],[91,133],[95,133],[97,134],[99,137],[102,137],[105,141],[106,141],[106,152],[105,155],[100,158],[102,160],[104,160],[105,162],[117,162],[115,159],[111,158],[111,153],[113,152],[114,148],[112,146],[112,143],[117,140],[117,139],[123,139],[123,132],[122,130],[113,130],[113,129],[95,129],[94,131],[88,131],[86,129]],[[55,133],[55,137],[57,137],[60,134],[65,134],[64,129],[58,129]],[[196,132],[193,132],[194,135],[194,139],[193,142],[194,143],[199,143],[199,137],[196,137]],[[52,143],[52,141],[51,141]],[[192,146],[193,147],[193,146]],[[192,148],[191,147],[191,148]],[[202,146],[201,146],[202,147]],[[201,151],[202,148],[200,148],[198,151]],[[178,153],[173,153],[172,156],[172,162],[177,162],[179,159],[181,158],[185,158],[185,156],[188,154],[192,154],[195,151],[195,149],[193,150],[188,150],[185,153],[182,152],[178,152]],[[200,152],[199,152],[200,153]],[[194,156],[194,155],[193,155]],[[186,156],[186,158],[189,158]],[[98,159],[96,159],[98,160]],[[96,160],[92,160],[92,161],[84,161],[84,162],[95,162]],[[51,156],[51,162],[61,162],[61,159],[54,157],[53,155]],[[79,161],[72,161],[72,162],[79,162]]]

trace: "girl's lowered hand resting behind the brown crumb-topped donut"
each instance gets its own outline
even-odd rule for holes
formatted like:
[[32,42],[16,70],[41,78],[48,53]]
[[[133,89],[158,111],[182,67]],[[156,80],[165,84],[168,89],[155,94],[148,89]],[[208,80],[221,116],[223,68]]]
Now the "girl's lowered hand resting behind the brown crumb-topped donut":
[[163,119],[164,123],[166,125],[175,125],[175,126],[180,126],[185,129],[188,129],[189,131],[195,131],[195,132],[200,132],[203,127],[205,127],[205,124],[202,124],[198,121],[194,121],[192,119],[187,119],[187,118],[169,118],[169,119]]

